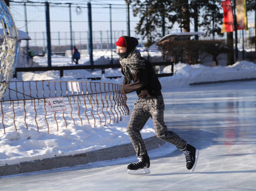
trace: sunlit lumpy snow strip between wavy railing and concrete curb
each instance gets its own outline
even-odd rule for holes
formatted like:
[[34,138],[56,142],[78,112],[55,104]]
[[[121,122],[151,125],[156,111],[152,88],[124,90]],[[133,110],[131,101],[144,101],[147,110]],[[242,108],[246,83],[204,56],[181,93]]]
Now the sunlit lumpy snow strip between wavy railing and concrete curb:
[[[130,108],[132,109],[132,108]],[[0,131],[0,166],[13,165],[26,161],[42,160],[56,156],[67,156],[103,149],[121,144],[130,143],[126,132],[129,117],[123,117],[118,123],[74,125],[68,123],[67,129],[64,122],[56,132],[53,126],[50,133],[46,127],[26,129],[24,125],[17,125],[18,131],[13,126]],[[143,138],[155,136],[152,121],[149,121],[141,131]]]

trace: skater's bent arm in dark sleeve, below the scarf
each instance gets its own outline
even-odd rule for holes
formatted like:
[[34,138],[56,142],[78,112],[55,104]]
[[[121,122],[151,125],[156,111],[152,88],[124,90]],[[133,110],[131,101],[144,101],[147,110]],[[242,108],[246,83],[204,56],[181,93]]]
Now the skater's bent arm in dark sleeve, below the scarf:
[[121,91],[123,94],[128,94],[134,91],[137,91],[148,84],[148,67],[140,68],[139,72],[135,75],[132,74],[132,78],[134,79],[133,83],[123,85]]

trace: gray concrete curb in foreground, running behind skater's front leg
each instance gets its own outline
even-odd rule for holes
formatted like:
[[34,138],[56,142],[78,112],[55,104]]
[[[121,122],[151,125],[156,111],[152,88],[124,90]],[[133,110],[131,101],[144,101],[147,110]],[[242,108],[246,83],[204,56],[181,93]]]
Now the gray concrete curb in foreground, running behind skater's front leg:
[[[156,136],[144,139],[144,142],[148,151],[159,148],[160,146],[163,146],[166,143],[165,141],[157,138]],[[130,143],[125,145],[109,147],[106,149],[90,151],[82,154],[58,156],[51,159],[23,162],[16,165],[0,166],[0,176],[83,165],[97,161],[106,161],[132,156],[135,154],[135,150],[133,149],[133,146]]]

